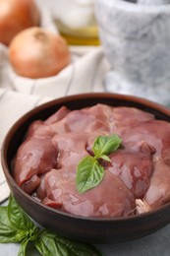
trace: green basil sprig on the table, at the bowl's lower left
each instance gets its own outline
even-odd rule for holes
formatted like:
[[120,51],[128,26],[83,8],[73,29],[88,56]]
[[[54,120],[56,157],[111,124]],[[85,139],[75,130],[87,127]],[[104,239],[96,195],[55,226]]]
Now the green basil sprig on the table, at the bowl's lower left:
[[8,206],[0,206],[0,243],[20,243],[18,256],[25,256],[30,241],[43,256],[102,256],[92,245],[72,241],[37,227],[10,196]]

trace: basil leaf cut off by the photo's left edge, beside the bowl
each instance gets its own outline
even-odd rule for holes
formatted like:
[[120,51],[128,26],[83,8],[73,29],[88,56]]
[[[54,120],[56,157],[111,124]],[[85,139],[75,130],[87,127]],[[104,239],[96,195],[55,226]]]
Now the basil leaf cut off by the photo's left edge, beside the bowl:
[[0,207],[0,242],[17,242],[17,231],[13,228],[8,220],[7,207]]

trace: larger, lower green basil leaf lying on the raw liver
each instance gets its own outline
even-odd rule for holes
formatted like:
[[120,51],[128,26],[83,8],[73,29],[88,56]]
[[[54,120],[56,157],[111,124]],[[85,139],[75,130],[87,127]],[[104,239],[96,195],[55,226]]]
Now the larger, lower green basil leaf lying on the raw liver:
[[96,187],[104,176],[104,168],[97,160],[87,156],[78,164],[76,185],[79,193]]

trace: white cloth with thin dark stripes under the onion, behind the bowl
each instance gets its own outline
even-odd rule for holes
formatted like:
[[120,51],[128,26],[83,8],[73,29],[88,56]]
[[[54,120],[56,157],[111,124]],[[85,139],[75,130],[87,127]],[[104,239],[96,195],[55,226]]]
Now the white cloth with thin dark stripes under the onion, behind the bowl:
[[[50,15],[41,11],[41,27],[58,33]],[[12,124],[31,108],[53,98],[102,92],[103,78],[109,70],[100,46],[70,47],[72,63],[58,75],[45,79],[18,76],[8,60],[8,48],[0,44],[0,146]],[[0,167],[0,202],[9,189]]]

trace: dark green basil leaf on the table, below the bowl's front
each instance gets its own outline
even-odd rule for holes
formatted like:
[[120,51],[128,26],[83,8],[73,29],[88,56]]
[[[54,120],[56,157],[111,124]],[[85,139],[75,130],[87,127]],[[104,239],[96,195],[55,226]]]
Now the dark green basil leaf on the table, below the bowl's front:
[[92,245],[75,242],[60,237],[56,233],[44,229],[35,242],[37,250],[43,256],[101,256],[102,254]]

